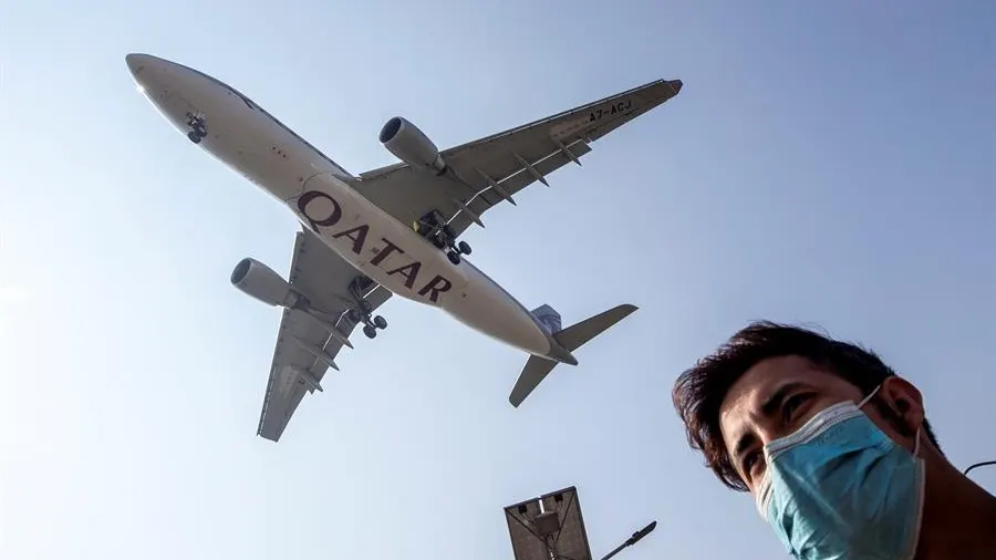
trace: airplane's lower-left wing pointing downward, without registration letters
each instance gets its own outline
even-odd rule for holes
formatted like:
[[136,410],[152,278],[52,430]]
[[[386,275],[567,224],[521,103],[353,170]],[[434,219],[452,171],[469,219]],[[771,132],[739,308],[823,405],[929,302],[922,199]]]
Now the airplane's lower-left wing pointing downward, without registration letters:
[[[288,281],[309,299],[311,307],[322,311],[324,320],[335,324],[345,340],[356,326],[346,311],[355,304],[350,283],[357,276],[349,262],[314,234],[307,229],[298,232]],[[374,282],[369,283],[363,290],[365,299],[376,309],[391,298],[391,292]],[[325,371],[330,366],[339,369],[334,360],[342,346],[343,343],[331,336],[329,329],[310,314],[283,310],[257,435],[272,442],[280,439],[304,395],[323,391],[321,381]]]

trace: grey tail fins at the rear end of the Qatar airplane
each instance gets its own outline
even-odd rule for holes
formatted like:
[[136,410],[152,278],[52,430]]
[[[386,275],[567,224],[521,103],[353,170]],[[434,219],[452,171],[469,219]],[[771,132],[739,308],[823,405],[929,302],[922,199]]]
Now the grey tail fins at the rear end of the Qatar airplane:
[[[622,321],[631,313],[636,311],[636,305],[629,303],[618,305],[594,317],[590,317],[580,323],[574,323],[567,329],[560,329],[560,314],[550,305],[541,305],[532,311],[532,314],[543,324],[544,328],[551,329],[550,334],[553,340],[567,351],[567,355],[583,346],[584,343],[594,339],[599,334],[608,331],[615,323]],[[556,329],[554,329],[556,326]],[[572,357],[572,356],[571,356]],[[508,402],[512,406],[518,407],[522,401],[553,371],[553,367],[560,362],[548,360],[540,356],[529,356],[522,373],[519,374],[516,386],[512,387],[511,394],[508,395]]]

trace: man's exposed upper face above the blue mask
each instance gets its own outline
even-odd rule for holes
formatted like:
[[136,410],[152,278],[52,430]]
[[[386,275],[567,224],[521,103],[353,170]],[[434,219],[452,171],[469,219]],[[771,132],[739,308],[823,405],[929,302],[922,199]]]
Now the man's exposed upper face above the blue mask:
[[[730,462],[754,492],[764,477],[762,447],[802,427],[818,412],[865,395],[833,373],[799,356],[771,357],[749,369],[726,394],[719,425]],[[863,412],[894,440],[895,431],[874,406]]]

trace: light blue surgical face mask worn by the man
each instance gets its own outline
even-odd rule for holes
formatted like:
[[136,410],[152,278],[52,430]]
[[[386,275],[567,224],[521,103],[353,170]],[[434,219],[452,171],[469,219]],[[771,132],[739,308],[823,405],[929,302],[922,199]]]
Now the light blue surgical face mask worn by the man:
[[861,412],[874,394],[821,411],[765,446],[758,510],[795,558],[907,560],[916,551],[920,429],[911,455]]

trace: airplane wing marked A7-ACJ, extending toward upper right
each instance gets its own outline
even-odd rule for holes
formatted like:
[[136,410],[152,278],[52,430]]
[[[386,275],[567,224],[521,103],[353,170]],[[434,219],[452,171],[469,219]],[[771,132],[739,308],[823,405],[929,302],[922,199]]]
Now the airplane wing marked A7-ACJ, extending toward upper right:
[[480,216],[569,163],[581,165],[592,142],[677,95],[681,80],[649,84],[540,121],[443,151],[447,172],[436,176],[407,164],[360,175],[353,186],[401,220],[413,224],[432,210],[456,235]]

